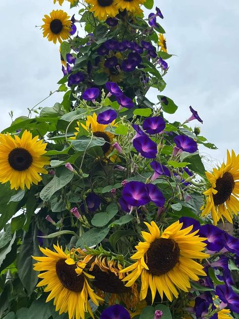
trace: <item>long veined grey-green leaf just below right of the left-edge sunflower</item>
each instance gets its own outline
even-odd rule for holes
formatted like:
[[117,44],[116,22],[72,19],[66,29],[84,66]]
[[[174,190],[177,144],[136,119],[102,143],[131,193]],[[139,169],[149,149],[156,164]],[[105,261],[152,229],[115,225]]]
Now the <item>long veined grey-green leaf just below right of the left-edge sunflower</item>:
[[73,179],[74,173],[68,170],[66,167],[62,168],[59,176],[54,175],[52,180],[41,190],[40,198],[44,201],[48,201],[50,197],[59,189],[66,186]]

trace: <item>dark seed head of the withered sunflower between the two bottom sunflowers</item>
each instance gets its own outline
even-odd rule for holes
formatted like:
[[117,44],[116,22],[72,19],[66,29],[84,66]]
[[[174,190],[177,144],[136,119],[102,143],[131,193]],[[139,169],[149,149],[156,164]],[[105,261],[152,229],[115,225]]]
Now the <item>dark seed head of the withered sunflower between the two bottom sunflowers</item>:
[[129,288],[117,276],[111,272],[102,272],[97,265],[94,265],[90,273],[95,276],[93,285],[104,292],[122,294],[129,291]]

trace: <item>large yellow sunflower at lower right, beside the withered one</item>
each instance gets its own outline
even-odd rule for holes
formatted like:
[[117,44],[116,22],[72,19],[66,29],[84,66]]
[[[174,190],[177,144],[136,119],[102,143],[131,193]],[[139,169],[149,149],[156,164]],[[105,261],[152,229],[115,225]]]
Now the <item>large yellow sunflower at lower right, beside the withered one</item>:
[[155,222],[145,223],[150,233],[142,232],[144,242],[135,247],[137,252],[131,257],[137,261],[121,272],[131,272],[123,281],[131,287],[141,275],[140,300],[146,298],[148,288],[154,301],[156,290],[161,298],[163,293],[172,301],[178,296],[177,289],[190,289],[190,279],[198,281],[198,275],[206,276],[203,266],[193,258],[205,258],[208,254],[201,252],[206,246],[206,238],[191,233],[193,226],[182,229],[183,223],[173,223],[161,233]]

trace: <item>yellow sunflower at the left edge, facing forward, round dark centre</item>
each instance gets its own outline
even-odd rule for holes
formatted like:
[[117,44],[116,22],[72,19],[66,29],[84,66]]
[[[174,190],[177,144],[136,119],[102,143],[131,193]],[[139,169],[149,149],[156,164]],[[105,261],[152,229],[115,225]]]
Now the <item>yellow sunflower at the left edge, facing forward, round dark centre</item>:
[[11,184],[11,189],[23,190],[25,185],[30,189],[31,184],[38,184],[42,177],[39,173],[47,174],[43,166],[49,164],[46,153],[47,143],[38,141],[38,136],[25,130],[20,138],[14,138],[7,133],[0,134],[0,182]]

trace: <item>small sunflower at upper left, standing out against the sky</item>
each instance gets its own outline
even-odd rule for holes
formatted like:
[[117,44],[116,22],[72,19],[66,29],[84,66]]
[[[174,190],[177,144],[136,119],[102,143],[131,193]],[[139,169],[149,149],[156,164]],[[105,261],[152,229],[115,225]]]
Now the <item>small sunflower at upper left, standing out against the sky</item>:
[[66,40],[70,37],[71,20],[66,12],[63,10],[52,10],[50,16],[44,15],[44,24],[41,26],[43,29],[43,37],[47,36],[48,41],[56,43],[58,40]]

